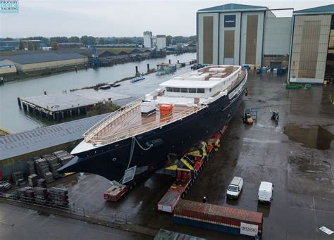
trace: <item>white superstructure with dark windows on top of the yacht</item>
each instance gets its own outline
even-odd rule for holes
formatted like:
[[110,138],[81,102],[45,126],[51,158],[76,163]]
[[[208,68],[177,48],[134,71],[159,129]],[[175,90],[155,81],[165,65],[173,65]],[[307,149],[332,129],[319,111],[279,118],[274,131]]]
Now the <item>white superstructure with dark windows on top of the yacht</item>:
[[[235,65],[211,65],[161,83],[161,89],[147,94],[147,101],[190,106],[210,103],[228,94],[241,75],[241,67]],[[240,85],[242,89],[242,84]],[[163,92],[163,94],[161,94]]]

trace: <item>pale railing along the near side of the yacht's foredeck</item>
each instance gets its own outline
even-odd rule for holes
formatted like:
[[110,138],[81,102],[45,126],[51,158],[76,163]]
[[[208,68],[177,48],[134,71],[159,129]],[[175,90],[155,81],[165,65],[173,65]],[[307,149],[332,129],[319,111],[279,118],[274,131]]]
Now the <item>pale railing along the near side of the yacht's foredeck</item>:
[[[148,132],[149,130],[154,130],[158,127],[163,127],[164,125],[167,125],[171,122],[181,120],[187,117],[188,115],[197,113],[199,110],[202,110],[203,108],[207,108],[207,107],[208,107],[207,103],[202,103],[202,105],[197,105],[197,106],[193,106],[192,108],[187,108],[186,110],[183,110],[177,115],[168,115],[166,116],[166,118],[159,119],[154,122],[149,122],[145,125],[130,127],[128,130],[116,132],[115,134],[111,134],[108,136],[98,136],[97,134],[95,135],[89,134],[87,135],[87,139],[85,138],[85,141],[92,143],[92,144],[103,144],[103,145],[110,144],[112,142],[119,141],[121,139],[125,139],[128,137],[136,136],[138,134],[142,134],[144,132]],[[115,118],[112,118],[112,119],[115,119]]]

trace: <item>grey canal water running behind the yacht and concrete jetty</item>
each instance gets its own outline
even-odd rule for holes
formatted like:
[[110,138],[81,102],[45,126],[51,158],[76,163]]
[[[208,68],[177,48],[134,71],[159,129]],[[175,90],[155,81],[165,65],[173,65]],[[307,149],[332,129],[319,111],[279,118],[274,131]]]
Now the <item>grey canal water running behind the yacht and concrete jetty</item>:
[[[59,92],[69,89],[79,89],[87,86],[94,86],[101,82],[114,82],[124,77],[135,75],[135,66],[140,72],[147,72],[147,63],[150,68],[156,68],[157,63],[189,62],[196,59],[196,53],[185,53],[180,56],[166,56],[166,58],[149,59],[142,62],[118,64],[112,67],[80,70],[78,72],[64,72],[48,77],[38,77],[26,80],[6,82],[0,85],[0,127],[5,127],[14,132],[23,132],[37,127],[51,125],[58,122],[49,122],[34,114],[27,114],[18,108],[18,96],[37,96],[47,93]],[[178,68],[175,75],[190,71],[190,65],[185,68]],[[136,99],[149,91],[154,91],[161,82],[171,78],[171,75],[156,76],[155,73],[146,76],[145,80],[131,84],[129,81],[120,82],[121,86],[111,91],[117,94],[125,94]],[[75,118],[68,119],[75,120]]]

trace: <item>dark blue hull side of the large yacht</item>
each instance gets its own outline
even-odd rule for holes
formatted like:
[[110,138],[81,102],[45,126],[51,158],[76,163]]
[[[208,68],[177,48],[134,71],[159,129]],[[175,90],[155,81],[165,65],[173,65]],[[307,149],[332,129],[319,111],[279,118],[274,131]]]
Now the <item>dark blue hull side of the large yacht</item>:
[[[236,94],[233,99],[229,99],[228,95],[223,96],[210,103],[207,108],[187,118],[137,135],[136,139],[142,147],[147,148],[152,143],[153,146],[144,151],[138,144],[135,144],[130,167],[147,166],[148,169],[156,170],[163,167],[169,153],[181,156],[194,144],[209,139],[215,132],[221,130],[223,125],[227,124],[237,112],[245,90],[245,81],[247,79],[240,81],[240,84],[243,84],[242,91]],[[240,84],[234,89],[240,87]],[[128,167],[131,145],[132,139],[129,138],[91,151],[78,153],[58,172],[89,172],[110,180],[120,181]]]

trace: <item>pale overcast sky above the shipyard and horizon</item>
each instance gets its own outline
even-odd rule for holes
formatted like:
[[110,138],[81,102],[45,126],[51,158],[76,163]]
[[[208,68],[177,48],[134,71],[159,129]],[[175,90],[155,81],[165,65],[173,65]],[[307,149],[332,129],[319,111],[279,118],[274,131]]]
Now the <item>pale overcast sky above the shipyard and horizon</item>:
[[[280,1],[97,1],[97,0],[19,0],[20,13],[0,13],[0,37],[142,36],[153,34],[196,34],[196,11],[233,2],[294,8],[296,10],[333,4],[333,0]],[[278,17],[292,11],[274,11]]]

